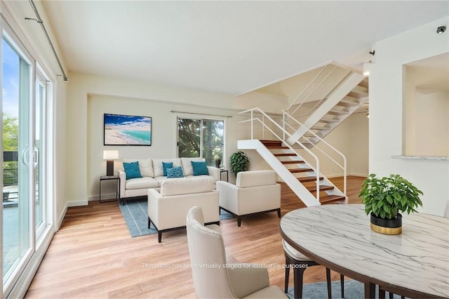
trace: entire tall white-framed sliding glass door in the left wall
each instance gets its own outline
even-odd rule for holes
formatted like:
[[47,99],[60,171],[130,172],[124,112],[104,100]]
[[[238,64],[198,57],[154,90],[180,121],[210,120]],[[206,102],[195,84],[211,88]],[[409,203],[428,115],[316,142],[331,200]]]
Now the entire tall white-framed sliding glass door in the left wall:
[[[49,225],[46,188],[48,79],[16,39],[1,41],[3,283],[11,291]],[[47,230],[48,231],[48,230]]]

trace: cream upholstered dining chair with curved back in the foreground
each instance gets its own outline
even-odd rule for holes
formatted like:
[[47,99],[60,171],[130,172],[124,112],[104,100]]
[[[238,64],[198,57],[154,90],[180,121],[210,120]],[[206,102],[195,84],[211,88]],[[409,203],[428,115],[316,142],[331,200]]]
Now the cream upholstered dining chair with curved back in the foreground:
[[220,227],[205,227],[199,206],[189,210],[186,225],[198,298],[288,298],[281,288],[269,285],[268,271],[261,265],[227,264]]

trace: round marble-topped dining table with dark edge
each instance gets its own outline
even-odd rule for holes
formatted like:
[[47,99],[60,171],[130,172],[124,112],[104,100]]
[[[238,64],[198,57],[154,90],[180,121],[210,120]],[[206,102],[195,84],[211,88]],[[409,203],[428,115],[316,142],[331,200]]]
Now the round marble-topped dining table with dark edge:
[[290,211],[281,219],[288,244],[324,265],[365,284],[410,298],[449,297],[449,219],[403,214],[402,234],[370,230],[363,205],[333,204]]

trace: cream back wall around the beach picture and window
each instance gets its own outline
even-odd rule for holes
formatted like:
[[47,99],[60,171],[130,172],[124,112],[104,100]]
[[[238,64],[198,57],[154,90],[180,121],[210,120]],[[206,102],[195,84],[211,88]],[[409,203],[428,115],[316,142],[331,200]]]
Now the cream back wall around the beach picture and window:
[[[236,150],[236,140],[247,134],[237,124],[243,117],[236,113],[252,106],[233,95],[90,74],[70,73],[69,78],[69,159],[65,163],[69,206],[86,205],[89,198],[98,195],[99,176],[105,172],[105,161],[102,160],[105,148],[102,145],[102,114],[105,112],[145,114],[154,118],[151,147],[107,147],[119,150],[121,158],[175,157],[175,116],[170,110],[231,115],[227,121],[227,157]],[[275,110],[276,102],[265,102],[264,107],[267,111]]]

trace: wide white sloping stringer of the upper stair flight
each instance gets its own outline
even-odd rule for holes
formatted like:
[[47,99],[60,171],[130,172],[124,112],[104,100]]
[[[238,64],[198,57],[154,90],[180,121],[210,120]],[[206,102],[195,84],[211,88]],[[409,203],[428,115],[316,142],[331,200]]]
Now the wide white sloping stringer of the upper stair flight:
[[[304,126],[301,126],[300,128],[295,131],[291,135],[290,138],[288,138],[287,142],[290,145],[293,145],[297,140],[299,140],[302,135],[307,133],[311,127],[313,127],[316,123],[318,123],[323,117],[330,112],[333,107],[335,107],[338,102],[340,102],[344,97],[346,97],[358,84],[363,81],[365,77],[362,74],[358,73],[352,73],[350,74],[347,79],[344,80],[340,86],[335,88],[335,91],[331,93],[326,101],[323,102],[323,104],[314,111],[314,113],[311,114],[311,116],[304,121]],[[341,121],[337,124],[340,124]]]

